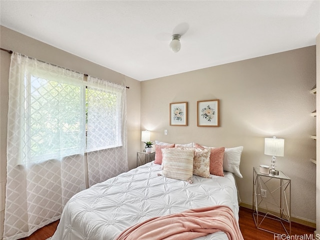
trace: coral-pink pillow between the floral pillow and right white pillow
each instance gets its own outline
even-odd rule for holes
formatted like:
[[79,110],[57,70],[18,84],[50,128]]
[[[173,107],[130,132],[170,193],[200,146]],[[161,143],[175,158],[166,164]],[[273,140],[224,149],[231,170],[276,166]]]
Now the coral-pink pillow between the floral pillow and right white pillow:
[[[197,143],[195,147],[205,148]],[[223,174],[223,157],[224,157],[224,147],[211,148],[210,152],[210,174],[217,176],[224,176]]]

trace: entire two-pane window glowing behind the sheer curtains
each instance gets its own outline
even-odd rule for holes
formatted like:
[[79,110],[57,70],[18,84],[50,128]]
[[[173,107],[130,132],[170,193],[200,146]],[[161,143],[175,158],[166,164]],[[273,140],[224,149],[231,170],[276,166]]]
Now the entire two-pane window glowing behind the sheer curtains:
[[[113,83],[111,83],[113,84]],[[50,72],[24,75],[27,162],[56,159],[121,143],[121,91]],[[24,162],[25,163],[25,162]]]

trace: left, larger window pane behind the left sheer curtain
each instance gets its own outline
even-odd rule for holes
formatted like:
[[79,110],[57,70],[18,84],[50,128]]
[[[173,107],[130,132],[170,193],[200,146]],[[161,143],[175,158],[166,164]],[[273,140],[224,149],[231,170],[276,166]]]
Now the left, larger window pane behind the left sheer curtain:
[[[26,162],[83,152],[82,79],[39,70],[24,72]],[[25,163],[25,162],[24,162]]]

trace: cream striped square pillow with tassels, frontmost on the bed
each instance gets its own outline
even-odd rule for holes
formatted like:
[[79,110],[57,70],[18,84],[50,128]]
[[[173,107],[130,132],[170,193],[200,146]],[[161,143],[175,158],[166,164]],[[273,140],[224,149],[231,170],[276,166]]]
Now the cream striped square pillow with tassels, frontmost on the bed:
[[193,150],[162,148],[162,175],[174,179],[192,181]]

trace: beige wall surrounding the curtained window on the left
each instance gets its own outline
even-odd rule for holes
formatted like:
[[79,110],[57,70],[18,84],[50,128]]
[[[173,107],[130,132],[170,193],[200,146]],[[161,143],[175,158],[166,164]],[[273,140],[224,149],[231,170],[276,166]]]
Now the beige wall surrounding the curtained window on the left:
[[[129,168],[136,166],[136,151],[140,148],[140,82],[108,68],[102,67],[58,48],[37,41],[6,27],[0,28],[1,47],[43,61],[50,62],[78,72],[87,73],[130,88],[126,90],[127,99],[127,138]],[[85,37],[85,35],[83,35]],[[83,46],[85,47],[85,46]],[[107,54],[101,52],[101,54]],[[6,115],[8,102],[8,73],[10,54],[0,51],[0,238],[2,238],[4,218],[4,185],[6,180]]]

